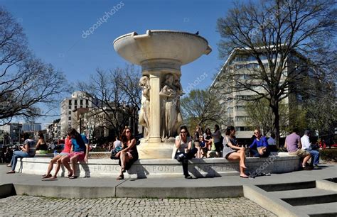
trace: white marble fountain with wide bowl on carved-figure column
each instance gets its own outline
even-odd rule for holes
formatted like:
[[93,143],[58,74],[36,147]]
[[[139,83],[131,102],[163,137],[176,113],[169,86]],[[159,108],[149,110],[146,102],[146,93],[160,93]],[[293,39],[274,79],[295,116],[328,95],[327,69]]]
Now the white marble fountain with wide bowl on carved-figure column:
[[120,36],[114,40],[114,50],[129,62],[141,65],[143,100],[139,120],[147,133],[137,147],[139,158],[171,158],[174,143],[164,141],[178,135],[182,123],[181,65],[208,55],[208,41],[191,33],[147,30],[144,35],[134,32]]

